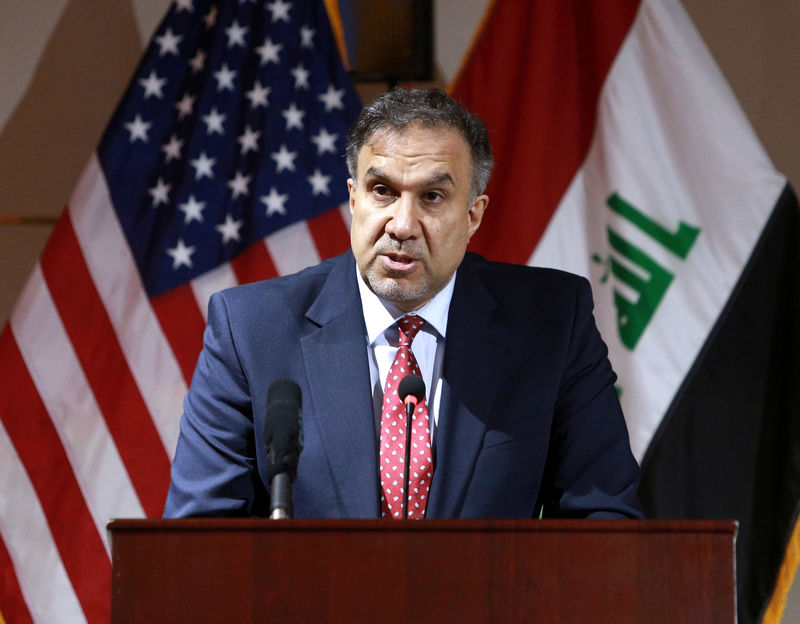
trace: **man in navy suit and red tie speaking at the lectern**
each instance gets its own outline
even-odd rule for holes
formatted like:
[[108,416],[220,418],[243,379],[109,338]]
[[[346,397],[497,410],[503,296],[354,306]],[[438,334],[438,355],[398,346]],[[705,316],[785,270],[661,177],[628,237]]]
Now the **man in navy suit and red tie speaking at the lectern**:
[[288,377],[295,515],[400,517],[395,393],[415,372],[409,517],[639,517],[588,283],[465,254],[489,203],[483,122],[440,90],[396,90],[362,111],[347,157],[352,251],[212,297],[165,516],[267,513],[267,389]]

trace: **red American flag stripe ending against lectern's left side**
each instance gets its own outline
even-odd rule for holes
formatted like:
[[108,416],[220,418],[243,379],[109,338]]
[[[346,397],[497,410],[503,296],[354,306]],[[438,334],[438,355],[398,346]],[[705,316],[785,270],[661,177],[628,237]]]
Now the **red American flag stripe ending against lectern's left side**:
[[90,622],[108,622],[111,562],[8,326],[0,335],[0,379],[6,386],[0,417],[39,497],[75,594]]

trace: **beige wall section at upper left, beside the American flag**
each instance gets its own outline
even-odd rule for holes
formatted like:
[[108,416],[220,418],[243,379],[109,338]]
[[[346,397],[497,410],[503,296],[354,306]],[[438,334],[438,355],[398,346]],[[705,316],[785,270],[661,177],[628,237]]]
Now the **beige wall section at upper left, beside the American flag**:
[[3,218],[61,213],[141,50],[129,0],[0,2],[0,324],[52,229]]

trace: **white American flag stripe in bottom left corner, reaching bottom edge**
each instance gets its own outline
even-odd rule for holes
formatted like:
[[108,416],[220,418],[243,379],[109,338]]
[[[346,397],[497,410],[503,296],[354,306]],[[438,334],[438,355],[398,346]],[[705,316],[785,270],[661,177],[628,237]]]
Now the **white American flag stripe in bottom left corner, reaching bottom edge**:
[[33,621],[42,624],[85,622],[36,491],[2,421],[0,536]]

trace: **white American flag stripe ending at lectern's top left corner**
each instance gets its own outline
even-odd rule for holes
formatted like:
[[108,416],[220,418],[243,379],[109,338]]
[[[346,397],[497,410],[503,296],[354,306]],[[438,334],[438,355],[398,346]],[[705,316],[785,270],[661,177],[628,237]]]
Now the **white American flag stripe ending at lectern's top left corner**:
[[69,458],[97,532],[109,551],[106,523],[143,517],[122,458],[44,281],[39,264],[11,316],[11,328],[34,385]]

